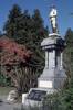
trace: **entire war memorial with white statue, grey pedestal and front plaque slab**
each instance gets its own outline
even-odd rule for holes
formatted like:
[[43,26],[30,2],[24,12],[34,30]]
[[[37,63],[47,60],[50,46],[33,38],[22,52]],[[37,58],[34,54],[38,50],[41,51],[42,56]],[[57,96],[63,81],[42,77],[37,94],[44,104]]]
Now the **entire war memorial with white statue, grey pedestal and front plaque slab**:
[[31,88],[29,94],[22,95],[23,105],[33,105],[42,100],[46,94],[53,94],[64,86],[66,79],[63,68],[64,40],[60,36],[58,30],[58,12],[55,8],[51,9],[49,14],[52,31],[41,43],[45,52],[45,66],[43,73],[38,78],[38,88]]

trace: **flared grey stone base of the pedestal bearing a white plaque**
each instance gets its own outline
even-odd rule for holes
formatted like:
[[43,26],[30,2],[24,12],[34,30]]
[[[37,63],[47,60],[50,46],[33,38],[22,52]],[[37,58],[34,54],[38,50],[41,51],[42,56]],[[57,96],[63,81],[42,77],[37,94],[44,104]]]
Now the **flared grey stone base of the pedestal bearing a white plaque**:
[[44,68],[43,74],[38,79],[38,87],[48,89],[60,89],[63,87],[66,75],[64,69]]

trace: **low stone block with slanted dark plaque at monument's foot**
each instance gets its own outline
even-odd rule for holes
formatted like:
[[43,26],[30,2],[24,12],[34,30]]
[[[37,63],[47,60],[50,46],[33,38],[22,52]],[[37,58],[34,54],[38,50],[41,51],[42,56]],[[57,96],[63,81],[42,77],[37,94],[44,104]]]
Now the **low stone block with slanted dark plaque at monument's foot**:
[[46,88],[31,88],[29,94],[22,95],[22,105],[24,107],[40,107],[42,106],[42,100],[48,94],[53,94],[55,90]]

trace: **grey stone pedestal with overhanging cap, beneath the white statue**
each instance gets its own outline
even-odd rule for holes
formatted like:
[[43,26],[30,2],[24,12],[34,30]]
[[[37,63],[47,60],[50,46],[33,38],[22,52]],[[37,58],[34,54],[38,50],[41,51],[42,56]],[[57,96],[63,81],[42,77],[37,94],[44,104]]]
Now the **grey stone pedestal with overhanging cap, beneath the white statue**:
[[38,79],[38,87],[60,89],[66,79],[62,64],[62,53],[65,47],[64,41],[53,33],[42,41],[41,46],[45,51],[45,67]]

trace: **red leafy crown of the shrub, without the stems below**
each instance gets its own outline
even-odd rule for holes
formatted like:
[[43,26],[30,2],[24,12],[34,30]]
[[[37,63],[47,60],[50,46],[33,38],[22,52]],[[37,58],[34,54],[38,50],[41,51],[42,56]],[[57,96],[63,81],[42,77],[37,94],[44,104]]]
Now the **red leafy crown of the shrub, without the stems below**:
[[25,62],[31,56],[31,52],[23,45],[19,45],[8,37],[0,38],[0,48],[2,51],[1,54],[4,55],[4,57],[1,55],[1,64],[3,63],[3,65],[18,64],[19,61]]

